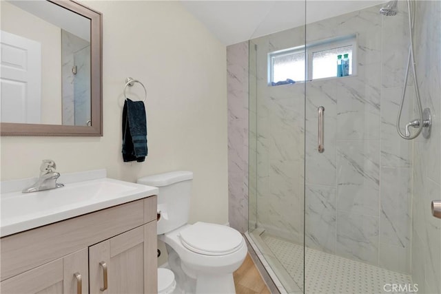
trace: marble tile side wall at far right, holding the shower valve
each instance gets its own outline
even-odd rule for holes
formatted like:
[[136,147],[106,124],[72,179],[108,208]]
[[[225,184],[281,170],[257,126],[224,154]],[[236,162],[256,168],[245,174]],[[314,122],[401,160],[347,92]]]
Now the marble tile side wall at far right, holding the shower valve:
[[429,139],[419,136],[413,145],[411,273],[418,293],[441,293],[441,220],[430,209],[441,199],[441,2],[417,1],[416,11],[418,85],[433,126]]

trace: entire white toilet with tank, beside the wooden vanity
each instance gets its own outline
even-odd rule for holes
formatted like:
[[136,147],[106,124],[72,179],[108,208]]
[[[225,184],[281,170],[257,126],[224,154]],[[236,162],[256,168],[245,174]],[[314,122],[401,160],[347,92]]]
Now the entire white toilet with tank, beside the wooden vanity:
[[169,266],[185,293],[236,293],[233,272],[247,255],[235,229],[220,224],[188,224],[193,173],[171,171],[140,178],[158,187],[159,240],[167,247]]

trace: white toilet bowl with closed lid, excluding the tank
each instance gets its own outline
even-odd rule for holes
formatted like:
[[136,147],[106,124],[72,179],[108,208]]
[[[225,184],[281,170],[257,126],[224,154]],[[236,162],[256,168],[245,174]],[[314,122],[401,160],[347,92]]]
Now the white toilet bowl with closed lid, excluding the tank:
[[196,222],[158,238],[176,252],[182,271],[196,282],[196,293],[236,293],[232,273],[247,255],[247,244],[238,231]]

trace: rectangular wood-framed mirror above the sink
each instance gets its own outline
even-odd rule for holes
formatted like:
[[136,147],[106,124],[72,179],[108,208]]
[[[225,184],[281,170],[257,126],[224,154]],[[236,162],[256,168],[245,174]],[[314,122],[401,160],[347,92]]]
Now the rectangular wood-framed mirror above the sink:
[[1,136],[102,136],[101,13],[65,0],[0,5]]

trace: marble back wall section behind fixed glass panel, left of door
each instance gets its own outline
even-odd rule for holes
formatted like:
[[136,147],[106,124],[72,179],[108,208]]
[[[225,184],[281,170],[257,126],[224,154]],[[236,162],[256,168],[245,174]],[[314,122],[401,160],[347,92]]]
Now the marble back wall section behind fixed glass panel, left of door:
[[292,47],[293,42],[301,45],[304,36],[304,28],[295,28],[250,41],[250,52],[256,55],[256,94],[250,96],[250,103],[252,98],[256,101],[256,225],[299,244],[303,242],[305,84],[269,87],[267,54]]

